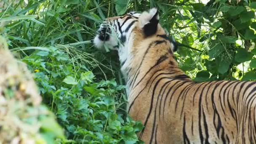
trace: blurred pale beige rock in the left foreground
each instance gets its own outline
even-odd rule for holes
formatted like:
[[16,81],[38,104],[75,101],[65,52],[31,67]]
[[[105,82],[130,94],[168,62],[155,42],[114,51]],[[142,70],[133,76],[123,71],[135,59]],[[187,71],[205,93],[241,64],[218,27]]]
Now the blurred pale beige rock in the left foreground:
[[0,36],[0,144],[49,144],[64,138],[26,64],[14,59]]

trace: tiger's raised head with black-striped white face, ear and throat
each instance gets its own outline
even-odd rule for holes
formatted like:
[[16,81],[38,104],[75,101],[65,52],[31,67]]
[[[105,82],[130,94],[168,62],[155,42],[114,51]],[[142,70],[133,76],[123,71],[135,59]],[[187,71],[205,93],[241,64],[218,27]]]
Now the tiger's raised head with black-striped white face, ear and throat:
[[117,50],[121,67],[123,67],[128,65],[125,63],[131,59],[136,60],[135,55],[141,57],[138,53],[144,53],[152,41],[163,38],[168,41],[169,46],[166,48],[175,48],[159,24],[157,8],[152,8],[143,13],[129,12],[123,16],[105,19],[93,43],[97,48],[103,48],[106,45],[111,50]]

